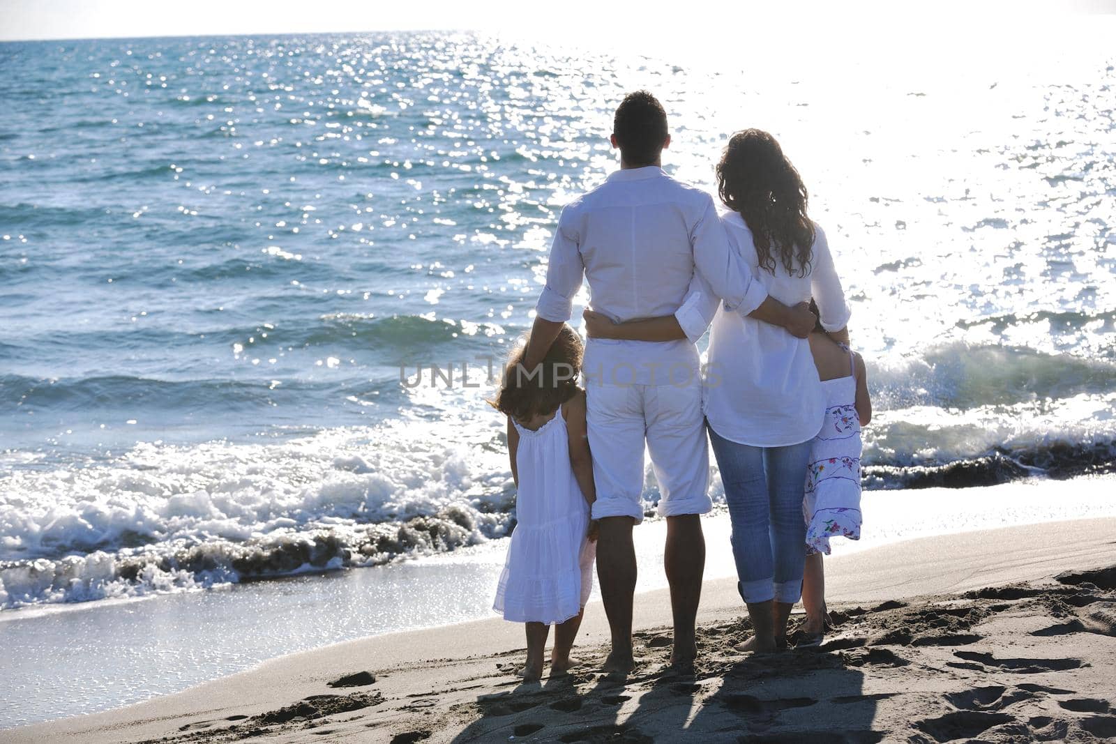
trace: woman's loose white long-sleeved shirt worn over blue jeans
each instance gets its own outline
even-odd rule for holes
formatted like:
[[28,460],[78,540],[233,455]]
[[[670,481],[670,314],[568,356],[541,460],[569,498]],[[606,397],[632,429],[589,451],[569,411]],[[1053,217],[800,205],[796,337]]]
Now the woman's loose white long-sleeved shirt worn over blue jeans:
[[[770,297],[787,306],[808,302],[812,297],[826,330],[848,325],[850,311],[820,226],[814,225],[812,260],[804,277],[797,267],[788,271],[778,259],[773,272],[761,269],[743,218],[728,212],[721,220],[733,249]],[[709,425],[719,436],[740,444],[777,447],[817,435],[826,412],[826,395],[806,339],[725,310],[698,273],[675,318],[693,341],[712,321],[703,405]]]

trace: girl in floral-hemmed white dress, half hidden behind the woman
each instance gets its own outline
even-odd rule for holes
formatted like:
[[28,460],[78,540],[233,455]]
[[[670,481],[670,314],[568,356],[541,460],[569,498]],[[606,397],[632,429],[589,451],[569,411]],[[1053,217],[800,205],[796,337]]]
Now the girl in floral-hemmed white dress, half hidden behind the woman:
[[[811,303],[811,309],[815,306]],[[860,539],[860,427],[872,421],[864,359],[835,341],[821,325],[810,334],[810,352],[826,392],[826,417],[810,447],[806,472],[806,622],[799,646],[818,646],[825,636],[826,593],[821,555],[829,538]]]

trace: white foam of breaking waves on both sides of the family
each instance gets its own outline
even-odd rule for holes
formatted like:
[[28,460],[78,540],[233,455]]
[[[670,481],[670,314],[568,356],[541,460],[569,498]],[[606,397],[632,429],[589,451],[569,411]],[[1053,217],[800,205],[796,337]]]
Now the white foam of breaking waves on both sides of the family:
[[[1114,410],[1116,394],[1083,393],[883,412],[866,433],[868,482],[935,484],[921,468],[943,463],[999,482],[999,461],[979,462],[997,453],[1032,473],[1110,458]],[[12,471],[0,495],[0,608],[376,566],[502,537],[513,486],[501,427],[487,418],[267,444],[144,443],[107,464]],[[710,490],[723,502],[715,466]],[[644,497],[648,509],[658,497],[650,467]]]

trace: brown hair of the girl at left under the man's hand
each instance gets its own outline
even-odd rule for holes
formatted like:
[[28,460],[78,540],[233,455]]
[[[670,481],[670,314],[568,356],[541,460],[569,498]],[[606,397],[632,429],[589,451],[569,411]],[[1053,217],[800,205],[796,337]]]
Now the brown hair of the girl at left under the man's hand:
[[581,338],[565,323],[538,368],[523,367],[526,350],[521,342],[512,351],[492,402],[498,410],[519,422],[545,416],[573,398],[581,373]]

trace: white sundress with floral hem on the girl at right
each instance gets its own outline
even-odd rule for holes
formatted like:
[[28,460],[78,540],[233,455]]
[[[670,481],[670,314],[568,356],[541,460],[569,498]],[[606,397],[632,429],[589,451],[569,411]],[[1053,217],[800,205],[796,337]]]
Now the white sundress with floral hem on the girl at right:
[[860,539],[860,417],[856,413],[856,365],[848,351],[849,376],[821,383],[826,418],[814,437],[806,472],[807,554],[829,554],[829,538]]

